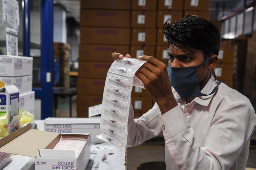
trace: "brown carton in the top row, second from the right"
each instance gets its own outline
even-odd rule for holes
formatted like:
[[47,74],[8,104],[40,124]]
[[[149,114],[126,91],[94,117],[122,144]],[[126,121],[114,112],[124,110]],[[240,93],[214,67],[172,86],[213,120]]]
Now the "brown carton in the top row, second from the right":
[[159,0],[158,1],[158,10],[182,10],[184,0]]

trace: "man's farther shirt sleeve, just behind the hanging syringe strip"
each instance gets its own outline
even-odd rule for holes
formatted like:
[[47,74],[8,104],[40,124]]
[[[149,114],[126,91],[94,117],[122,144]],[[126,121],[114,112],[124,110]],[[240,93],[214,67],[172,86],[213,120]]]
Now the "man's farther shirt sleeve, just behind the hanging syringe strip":
[[144,141],[156,137],[162,131],[158,122],[161,112],[157,104],[154,104],[139,119],[133,119],[134,112],[132,105],[130,105],[129,112],[127,147],[140,145]]

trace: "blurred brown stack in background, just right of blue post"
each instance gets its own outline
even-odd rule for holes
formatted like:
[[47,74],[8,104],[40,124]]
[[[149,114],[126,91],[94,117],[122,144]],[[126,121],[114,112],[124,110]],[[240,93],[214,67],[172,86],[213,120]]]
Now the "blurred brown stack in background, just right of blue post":
[[70,87],[70,45],[53,43],[54,57],[59,61],[59,87]]

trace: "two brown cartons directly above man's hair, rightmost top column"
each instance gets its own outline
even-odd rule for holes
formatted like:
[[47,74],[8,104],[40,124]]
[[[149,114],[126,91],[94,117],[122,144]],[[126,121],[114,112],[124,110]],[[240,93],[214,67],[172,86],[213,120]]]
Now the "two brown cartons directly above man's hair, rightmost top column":
[[210,0],[184,0],[184,16],[192,15],[210,20]]

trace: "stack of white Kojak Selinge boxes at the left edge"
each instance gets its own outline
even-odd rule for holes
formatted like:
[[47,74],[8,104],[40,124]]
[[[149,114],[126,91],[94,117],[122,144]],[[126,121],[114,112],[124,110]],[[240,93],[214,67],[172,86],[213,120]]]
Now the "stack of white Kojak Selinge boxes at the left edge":
[[[35,92],[32,91],[32,57],[0,55],[0,81],[5,82],[5,86],[15,85],[18,93],[11,99],[18,98],[18,108],[23,108],[34,115]],[[26,100],[28,96],[30,100]],[[3,103],[1,103],[3,104]],[[15,116],[12,114],[12,116]],[[9,116],[8,123],[12,121]]]

